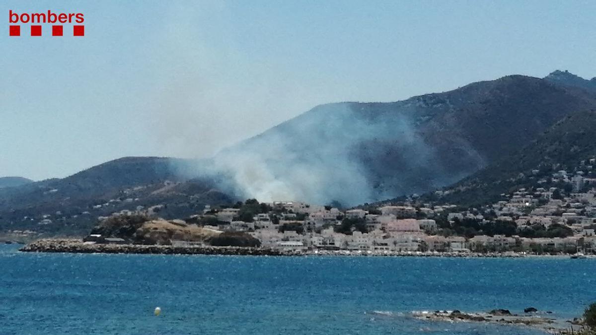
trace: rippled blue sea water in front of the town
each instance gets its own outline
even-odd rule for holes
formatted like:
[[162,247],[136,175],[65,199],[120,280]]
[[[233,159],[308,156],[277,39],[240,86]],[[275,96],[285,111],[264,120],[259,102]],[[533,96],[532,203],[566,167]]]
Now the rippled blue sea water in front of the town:
[[589,259],[82,255],[0,246],[0,334],[541,334],[407,313],[535,306],[572,318],[594,301]]

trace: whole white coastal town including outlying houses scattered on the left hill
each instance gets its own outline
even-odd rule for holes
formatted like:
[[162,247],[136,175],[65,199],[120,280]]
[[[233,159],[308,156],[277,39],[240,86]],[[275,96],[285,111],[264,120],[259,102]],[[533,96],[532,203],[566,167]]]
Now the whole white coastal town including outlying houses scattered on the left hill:
[[[148,228],[140,229],[137,225],[129,229],[136,231],[135,238],[92,232],[86,243],[210,246],[207,235],[226,233],[252,238],[253,242],[246,246],[290,253],[567,254],[583,258],[596,252],[596,178],[592,173],[595,163],[596,159],[581,162],[572,172],[552,168],[533,170],[529,177],[535,181],[532,187],[501,194],[501,200],[477,208],[440,201],[448,191],[436,191],[434,196],[439,199],[436,201],[409,196],[403,201],[364,204],[351,209],[342,209],[339,204],[260,203],[249,199],[226,206],[207,204],[200,213],[169,221],[160,219],[166,204],[137,206],[98,217],[101,225],[110,218],[144,216]],[[170,183],[164,185],[169,187]],[[118,201],[110,200],[94,207],[112,203]],[[39,225],[48,224],[51,224],[50,216],[42,216]],[[198,236],[193,227],[201,229]],[[186,231],[172,232],[176,229]],[[139,237],[139,231],[145,231],[145,237]],[[159,231],[163,233],[159,235]],[[228,246],[244,245],[232,242]]]

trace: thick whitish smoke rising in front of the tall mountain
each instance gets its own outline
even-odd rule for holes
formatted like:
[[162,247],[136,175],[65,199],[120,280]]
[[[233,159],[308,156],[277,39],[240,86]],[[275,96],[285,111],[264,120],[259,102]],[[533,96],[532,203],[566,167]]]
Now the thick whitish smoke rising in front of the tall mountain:
[[349,103],[327,104],[216,154],[214,168],[260,201],[354,205],[377,199],[358,146],[387,139],[422,143],[405,117],[373,120]]

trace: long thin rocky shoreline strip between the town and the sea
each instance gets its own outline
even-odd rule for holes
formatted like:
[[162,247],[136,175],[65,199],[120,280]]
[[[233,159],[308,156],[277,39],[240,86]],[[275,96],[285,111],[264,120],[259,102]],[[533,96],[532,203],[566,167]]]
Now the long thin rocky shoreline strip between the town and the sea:
[[293,250],[266,247],[171,246],[155,244],[83,243],[67,238],[45,238],[18,249],[21,252],[45,253],[111,253],[156,255],[235,255],[235,256],[373,256],[373,257],[433,257],[433,258],[569,258],[569,255],[526,255],[504,253],[461,252],[390,252],[370,250]]

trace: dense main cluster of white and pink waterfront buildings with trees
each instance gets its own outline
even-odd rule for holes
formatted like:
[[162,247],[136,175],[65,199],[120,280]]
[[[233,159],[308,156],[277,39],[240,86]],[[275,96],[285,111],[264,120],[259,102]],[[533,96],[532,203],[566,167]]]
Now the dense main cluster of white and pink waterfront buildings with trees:
[[[204,228],[247,232],[263,247],[274,249],[377,253],[594,253],[595,193],[574,194],[572,198],[559,200],[550,198],[554,191],[529,194],[522,189],[510,201],[493,205],[488,213],[458,212],[457,206],[452,205],[340,210],[298,201],[280,201],[260,204],[259,207],[266,209],[264,213],[244,221],[238,219],[243,215],[243,206],[219,210],[207,207],[194,219],[216,222],[203,225]],[[539,199],[545,197],[548,201],[536,206]],[[530,207],[533,209],[528,213]],[[473,222],[480,227],[479,231],[466,236],[465,232],[460,235],[450,229],[464,222]],[[493,230],[504,227],[502,234],[483,234],[483,226],[495,225]],[[536,227],[545,229],[547,234],[562,233],[557,237],[522,237],[517,233]]]

